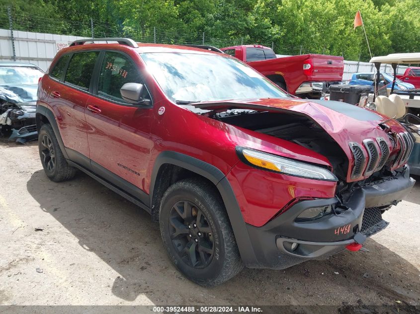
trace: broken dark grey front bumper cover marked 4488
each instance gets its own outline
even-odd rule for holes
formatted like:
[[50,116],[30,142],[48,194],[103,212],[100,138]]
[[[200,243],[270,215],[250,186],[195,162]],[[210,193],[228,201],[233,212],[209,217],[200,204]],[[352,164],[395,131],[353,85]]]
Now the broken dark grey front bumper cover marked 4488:
[[336,197],[320,198],[301,201],[262,227],[247,225],[258,256],[255,265],[247,266],[283,269],[308,259],[327,258],[354,243],[361,244],[388,226],[381,209],[400,201],[415,182],[405,167],[394,177],[357,188],[344,204],[347,209],[340,214],[295,221],[309,208],[340,205]]

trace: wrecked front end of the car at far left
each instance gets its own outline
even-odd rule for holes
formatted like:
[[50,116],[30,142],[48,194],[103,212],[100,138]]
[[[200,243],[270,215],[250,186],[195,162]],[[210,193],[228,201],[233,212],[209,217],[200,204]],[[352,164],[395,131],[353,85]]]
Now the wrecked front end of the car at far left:
[[0,86],[0,138],[24,143],[38,137],[36,85]]

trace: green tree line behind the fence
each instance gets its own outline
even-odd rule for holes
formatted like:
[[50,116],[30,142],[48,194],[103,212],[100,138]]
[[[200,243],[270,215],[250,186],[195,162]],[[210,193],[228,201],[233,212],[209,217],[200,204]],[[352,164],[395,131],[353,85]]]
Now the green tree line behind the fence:
[[[277,54],[323,53],[366,61],[420,51],[420,0],[0,0],[0,27],[144,42],[273,46]],[[204,33],[204,35],[202,35]]]

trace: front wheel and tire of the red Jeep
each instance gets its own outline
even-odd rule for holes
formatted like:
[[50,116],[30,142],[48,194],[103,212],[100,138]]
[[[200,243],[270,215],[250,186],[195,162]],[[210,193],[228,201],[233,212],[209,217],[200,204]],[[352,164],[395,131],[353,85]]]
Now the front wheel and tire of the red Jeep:
[[215,286],[242,270],[225,206],[213,184],[194,178],[170,186],[162,198],[159,222],[170,259],[191,281]]

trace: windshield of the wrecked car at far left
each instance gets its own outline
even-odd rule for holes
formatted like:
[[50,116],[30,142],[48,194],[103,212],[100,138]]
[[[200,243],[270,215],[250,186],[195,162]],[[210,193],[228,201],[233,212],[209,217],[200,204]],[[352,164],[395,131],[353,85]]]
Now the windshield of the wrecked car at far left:
[[0,66],[0,85],[38,84],[44,73],[36,67]]

